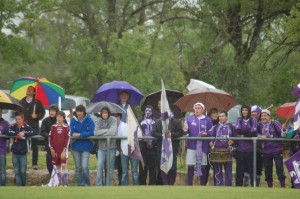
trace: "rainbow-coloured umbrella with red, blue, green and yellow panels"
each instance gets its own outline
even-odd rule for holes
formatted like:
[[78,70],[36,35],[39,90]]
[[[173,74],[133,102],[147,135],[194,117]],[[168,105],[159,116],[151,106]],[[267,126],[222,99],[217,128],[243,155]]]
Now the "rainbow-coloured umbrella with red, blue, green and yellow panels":
[[36,90],[36,99],[40,100],[43,106],[50,106],[58,103],[59,97],[65,99],[65,90],[48,81],[46,78],[23,77],[14,81],[10,88],[10,94],[21,100],[26,96],[27,88],[33,86]]

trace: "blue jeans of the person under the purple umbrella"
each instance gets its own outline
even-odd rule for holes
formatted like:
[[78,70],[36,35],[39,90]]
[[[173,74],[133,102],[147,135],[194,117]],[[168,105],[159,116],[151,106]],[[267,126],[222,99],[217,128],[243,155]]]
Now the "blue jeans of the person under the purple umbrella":
[[121,164],[122,164],[122,185],[128,185],[128,170],[129,170],[129,161],[131,167],[131,175],[133,185],[139,185],[139,173],[138,173],[138,165],[139,160],[135,158],[131,158],[121,154]]

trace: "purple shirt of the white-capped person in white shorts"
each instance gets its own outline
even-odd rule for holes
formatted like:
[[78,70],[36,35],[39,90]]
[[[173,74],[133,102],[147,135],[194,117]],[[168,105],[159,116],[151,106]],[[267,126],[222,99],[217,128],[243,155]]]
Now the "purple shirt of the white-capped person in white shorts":
[[[183,131],[184,135],[189,135],[189,137],[199,137],[199,133],[201,131],[207,132],[212,127],[212,121],[209,117],[202,115],[200,119],[195,115],[190,115],[185,123],[188,125],[189,130],[187,132]],[[188,149],[196,149],[197,140],[188,140],[187,141],[187,148]],[[209,141],[205,140],[202,141],[202,151],[204,153],[209,153],[210,147],[209,147]]]

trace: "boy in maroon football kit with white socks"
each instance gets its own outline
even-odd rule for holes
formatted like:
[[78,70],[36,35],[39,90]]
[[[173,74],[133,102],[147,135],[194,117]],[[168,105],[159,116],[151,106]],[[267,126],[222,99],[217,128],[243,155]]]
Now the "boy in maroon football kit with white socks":
[[[52,164],[56,166],[56,174],[59,180],[59,185],[62,185],[61,169],[64,175],[64,185],[68,186],[68,146],[70,142],[70,127],[64,121],[66,115],[63,111],[58,111],[56,114],[57,124],[51,126],[49,133],[49,148],[51,150]],[[53,168],[54,169],[54,168]]]

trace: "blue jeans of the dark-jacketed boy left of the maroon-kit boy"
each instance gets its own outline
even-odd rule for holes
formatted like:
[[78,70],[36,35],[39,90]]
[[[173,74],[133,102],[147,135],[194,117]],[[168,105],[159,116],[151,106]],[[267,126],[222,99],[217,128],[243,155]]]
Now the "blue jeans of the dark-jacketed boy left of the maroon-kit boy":
[[27,155],[13,154],[12,163],[16,175],[16,185],[26,185]]

